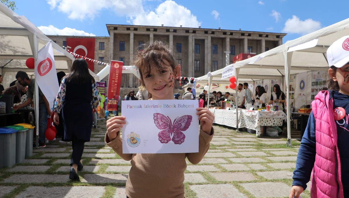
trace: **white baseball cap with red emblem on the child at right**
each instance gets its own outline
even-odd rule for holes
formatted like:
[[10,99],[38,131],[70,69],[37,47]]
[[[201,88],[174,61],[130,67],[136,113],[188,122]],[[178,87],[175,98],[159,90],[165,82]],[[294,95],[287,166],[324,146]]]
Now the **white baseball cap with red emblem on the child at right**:
[[349,62],[349,36],[343,36],[327,49],[328,66],[343,67]]

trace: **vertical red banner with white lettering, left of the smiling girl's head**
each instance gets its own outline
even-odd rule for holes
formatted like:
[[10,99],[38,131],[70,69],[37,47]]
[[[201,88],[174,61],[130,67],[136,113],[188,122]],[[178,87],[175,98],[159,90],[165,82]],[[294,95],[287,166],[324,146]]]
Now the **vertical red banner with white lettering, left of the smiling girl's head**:
[[118,110],[118,100],[121,85],[121,74],[124,62],[110,61],[109,81],[108,81],[108,111]]

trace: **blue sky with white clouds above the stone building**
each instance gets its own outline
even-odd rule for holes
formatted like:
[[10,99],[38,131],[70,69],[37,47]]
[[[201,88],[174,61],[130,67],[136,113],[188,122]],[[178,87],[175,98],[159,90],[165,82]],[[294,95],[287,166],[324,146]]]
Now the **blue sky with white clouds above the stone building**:
[[109,36],[105,24],[287,33],[283,43],[349,17],[348,0],[15,0],[47,35]]

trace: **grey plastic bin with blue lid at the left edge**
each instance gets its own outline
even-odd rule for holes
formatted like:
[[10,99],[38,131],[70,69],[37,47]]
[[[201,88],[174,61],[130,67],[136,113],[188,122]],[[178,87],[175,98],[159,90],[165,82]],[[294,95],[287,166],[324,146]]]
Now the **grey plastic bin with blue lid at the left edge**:
[[0,168],[12,167],[16,163],[17,130],[0,128]]

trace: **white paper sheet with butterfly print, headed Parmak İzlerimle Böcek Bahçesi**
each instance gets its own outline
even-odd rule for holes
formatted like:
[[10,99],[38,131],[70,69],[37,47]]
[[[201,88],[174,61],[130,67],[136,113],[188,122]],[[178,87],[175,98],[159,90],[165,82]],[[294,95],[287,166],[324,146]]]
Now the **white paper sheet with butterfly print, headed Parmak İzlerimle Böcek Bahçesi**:
[[140,100],[121,103],[122,153],[197,153],[196,100]]

